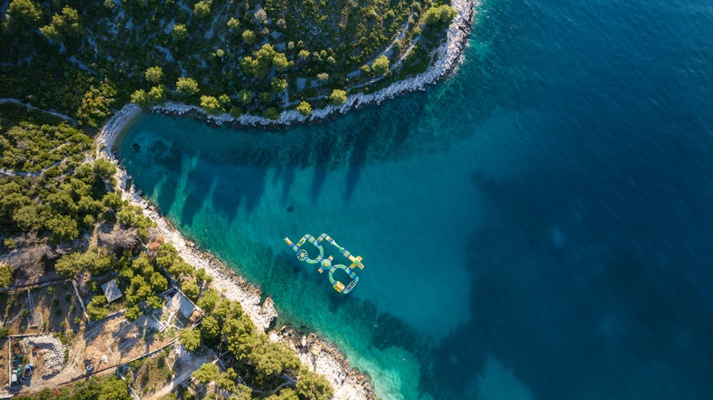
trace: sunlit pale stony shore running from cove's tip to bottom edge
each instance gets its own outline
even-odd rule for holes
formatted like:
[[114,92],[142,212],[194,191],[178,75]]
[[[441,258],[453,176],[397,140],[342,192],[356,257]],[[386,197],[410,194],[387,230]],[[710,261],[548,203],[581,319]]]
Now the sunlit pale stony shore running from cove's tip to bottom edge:
[[141,110],[138,106],[125,105],[104,125],[96,139],[98,151],[95,157],[105,157],[116,166],[116,177],[118,178],[118,187],[122,189],[122,199],[128,200],[134,206],[140,206],[143,213],[156,223],[157,228],[164,236],[164,241],[171,243],[187,263],[193,265],[194,268],[205,268],[205,271],[213,277],[210,284],[212,288],[230,300],[239,301],[243,311],[250,316],[257,329],[266,332],[272,341],[285,342],[293,349],[303,364],[327,377],[334,387],[334,399],[374,399],[374,389],[372,389],[369,379],[350,367],[344,354],[339,352],[339,349],[334,345],[324,342],[314,333],[298,337],[292,329],[287,327],[267,332],[272,321],[277,318],[277,310],[275,310],[272,299],[267,298],[265,302],[261,302],[260,288],[248,283],[245,278],[237,275],[235,271],[221,263],[212,254],[197,250],[193,243],[186,240],[170,223],[168,218],[160,214],[158,209],[149,204],[146,199],[143,199],[142,193],[133,184],[128,185],[130,176],[121,167],[111,149],[119,133],[140,113]]

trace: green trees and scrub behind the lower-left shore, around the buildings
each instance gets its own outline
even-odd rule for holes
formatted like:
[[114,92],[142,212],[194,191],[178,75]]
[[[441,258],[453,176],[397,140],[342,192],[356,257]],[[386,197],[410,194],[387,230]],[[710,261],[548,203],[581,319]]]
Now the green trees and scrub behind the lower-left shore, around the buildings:
[[[126,310],[128,320],[135,320],[162,308],[160,293],[175,284],[205,312],[198,327],[180,331],[181,344],[189,351],[210,347],[216,354],[227,352],[224,372],[213,364],[195,372],[198,398],[332,396],[332,386],[324,377],[307,370],[292,350],[256,330],[239,302],[210,288],[210,275],[180,258],[173,246],[163,243],[153,221],[121,199],[114,181],[116,167],[106,159],[86,157],[91,140],[85,133],[58,117],[21,105],[3,105],[0,120],[3,134],[13,132],[1,136],[7,139],[4,154],[12,154],[13,161],[0,176],[0,286],[33,283],[48,274],[75,278],[84,282],[80,290],[87,293],[83,297],[91,320],[119,309]],[[63,136],[58,139],[58,135]],[[36,140],[47,144],[35,144]],[[65,158],[55,155],[58,147],[64,149]],[[123,297],[107,304],[99,285],[111,279],[116,279]],[[170,378],[170,372],[158,364],[137,362],[125,372],[126,381],[140,379],[141,384],[153,370],[163,379]],[[128,399],[126,381],[93,378],[24,398]],[[193,398],[188,391],[180,396]]]

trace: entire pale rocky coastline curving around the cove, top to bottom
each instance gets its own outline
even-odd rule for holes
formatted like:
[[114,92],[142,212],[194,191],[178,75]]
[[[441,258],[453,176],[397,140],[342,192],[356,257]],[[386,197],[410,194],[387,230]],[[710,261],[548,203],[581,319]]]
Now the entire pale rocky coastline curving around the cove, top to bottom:
[[[307,117],[299,114],[297,110],[287,110],[282,112],[277,120],[268,120],[265,117],[252,115],[241,115],[237,118],[228,114],[208,116],[198,106],[180,103],[154,106],[150,108],[150,111],[173,116],[193,115],[200,119],[205,119],[211,125],[287,127],[295,122],[324,120],[328,117],[344,114],[351,110],[352,107],[359,108],[372,102],[378,105],[382,100],[394,98],[402,93],[426,90],[426,87],[446,78],[456,70],[461,60],[463,48],[466,46],[466,39],[470,32],[471,21],[475,12],[475,1],[453,0],[451,6],[458,11],[458,14],[451,26],[448,27],[446,43],[443,43],[439,48],[438,60],[434,65],[431,65],[426,72],[420,75],[396,82],[376,93],[350,95],[347,98],[347,102],[339,107],[329,105],[324,109],[314,110],[312,115]],[[270,330],[268,332],[270,324],[277,318],[277,311],[272,299],[267,298],[265,302],[261,302],[262,292],[260,288],[248,283],[212,254],[198,251],[194,248],[193,243],[186,240],[170,223],[168,218],[160,214],[158,209],[149,204],[146,199],[143,199],[142,193],[133,184],[128,185],[130,176],[121,167],[112,150],[120,132],[141,112],[142,110],[136,105],[125,105],[106,122],[96,139],[98,149],[95,157],[106,157],[116,166],[118,187],[122,189],[122,198],[128,200],[130,204],[140,206],[143,209],[143,213],[156,223],[164,236],[165,242],[171,243],[187,263],[195,268],[205,268],[206,272],[213,276],[211,283],[213,288],[230,300],[240,301],[243,310],[250,316],[255,326],[266,332],[270,340],[284,342],[297,354],[303,364],[327,377],[334,387],[334,399],[375,399],[376,394],[374,394],[369,378],[351,367],[349,360],[333,344],[324,342],[314,333],[302,335],[288,327],[280,327],[279,330]]]

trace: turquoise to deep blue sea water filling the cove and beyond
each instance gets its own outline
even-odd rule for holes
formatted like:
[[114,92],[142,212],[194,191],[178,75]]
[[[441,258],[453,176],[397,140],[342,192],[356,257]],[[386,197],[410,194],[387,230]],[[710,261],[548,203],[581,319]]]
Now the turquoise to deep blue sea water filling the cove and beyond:
[[[709,1],[485,0],[425,93],[280,131],[144,115],[118,151],[384,399],[712,399],[711,43]],[[282,242],[322,232],[364,257],[348,296]]]

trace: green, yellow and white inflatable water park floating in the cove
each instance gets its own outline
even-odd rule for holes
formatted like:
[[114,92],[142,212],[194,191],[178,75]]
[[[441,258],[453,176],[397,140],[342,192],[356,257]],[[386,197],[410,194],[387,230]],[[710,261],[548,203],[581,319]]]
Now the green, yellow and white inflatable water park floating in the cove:
[[[348,267],[347,265],[342,264],[332,264],[334,256],[324,258],[324,248],[322,247],[322,241],[327,241],[327,243],[336,247],[339,250],[339,253],[342,253],[342,256],[344,256],[344,258],[347,258],[347,260],[351,261],[352,263]],[[297,253],[297,260],[304,261],[305,263],[309,264],[319,264],[319,273],[328,271],[329,282],[332,283],[332,287],[334,288],[334,290],[337,290],[337,292],[342,293],[342,295],[346,295],[347,293],[354,290],[354,286],[356,286],[356,283],[359,283],[359,276],[356,275],[356,272],[354,270],[356,269],[356,267],[359,267],[359,269],[362,270],[364,269],[364,264],[361,263],[361,256],[352,256],[352,253],[349,253],[346,248],[339,246],[337,242],[334,241],[334,239],[330,238],[329,235],[327,235],[327,233],[322,233],[321,235],[319,235],[318,238],[314,238],[314,236],[307,234],[302,236],[302,238],[299,239],[297,243],[292,243],[289,238],[284,238],[284,242],[287,243],[287,246],[292,248],[295,253]],[[319,256],[315,258],[309,258],[307,250],[302,248],[302,245],[306,242],[312,243],[312,245],[314,245],[314,247],[319,250]],[[349,284],[345,286],[344,283],[341,283],[339,282],[339,280],[334,279],[334,273],[337,270],[343,270],[345,273],[347,273],[347,275],[349,275],[349,278],[352,278],[352,282],[349,282]]]

